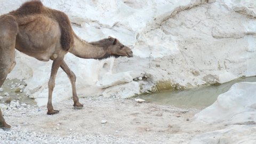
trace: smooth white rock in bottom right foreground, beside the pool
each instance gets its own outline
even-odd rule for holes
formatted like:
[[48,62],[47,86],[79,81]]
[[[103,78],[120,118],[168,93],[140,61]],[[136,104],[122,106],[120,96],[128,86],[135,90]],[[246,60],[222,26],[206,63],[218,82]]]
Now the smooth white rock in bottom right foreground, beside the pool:
[[193,121],[219,130],[196,135],[190,143],[255,143],[256,83],[236,83]]

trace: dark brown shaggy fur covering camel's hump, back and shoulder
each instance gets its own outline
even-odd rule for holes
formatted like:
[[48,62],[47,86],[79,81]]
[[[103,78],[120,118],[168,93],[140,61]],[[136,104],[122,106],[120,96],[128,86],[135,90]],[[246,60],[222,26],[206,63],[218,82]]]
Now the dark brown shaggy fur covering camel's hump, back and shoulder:
[[58,10],[53,10],[43,6],[41,1],[26,2],[20,6],[19,9],[9,13],[14,17],[24,17],[30,14],[44,14],[49,18],[55,19],[61,29],[60,43],[63,50],[68,51],[74,44],[73,30],[68,16]]

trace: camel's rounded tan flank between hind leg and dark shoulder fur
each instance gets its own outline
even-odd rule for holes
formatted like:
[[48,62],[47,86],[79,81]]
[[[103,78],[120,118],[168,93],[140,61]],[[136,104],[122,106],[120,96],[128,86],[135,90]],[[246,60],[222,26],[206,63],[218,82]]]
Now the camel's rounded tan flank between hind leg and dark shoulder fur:
[[41,61],[49,61],[60,45],[60,28],[51,18],[38,15],[19,18],[15,48]]

